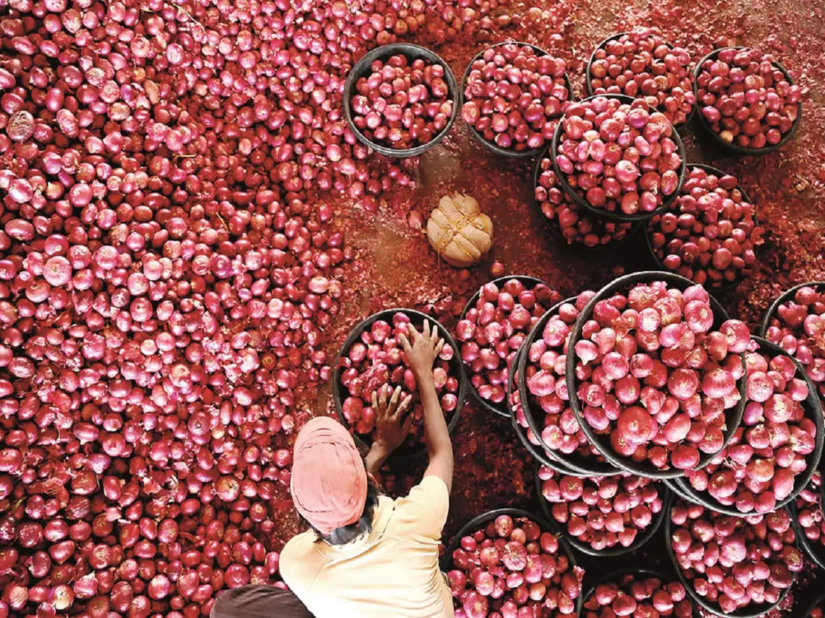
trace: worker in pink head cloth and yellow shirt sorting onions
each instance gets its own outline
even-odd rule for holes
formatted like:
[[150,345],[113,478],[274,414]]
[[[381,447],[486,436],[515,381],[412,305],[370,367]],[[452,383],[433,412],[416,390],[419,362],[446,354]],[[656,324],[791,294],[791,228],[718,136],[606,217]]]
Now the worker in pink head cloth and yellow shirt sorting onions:
[[[450,588],[438,568],[453,479],[450,434],[432,377],[444,341],[428,321],[420,333],[408,325],[399,339],[418,385],[429,458],[422,481],[406,497],[380,495],[375,480],[412,426],[411,414],[404,419],[412,396],[399,401],[400,388],[391,392],[385,385],[372,396],[375,439],[365,459],[347,428],[328,417],[310,420],[295,440],[292,499],[311,529],[285,545],[280,570],[316,618],[453,616]],[[307,616],[295,611],[295,597],[266,588],[279,595],[266,608],[268,616]],[[265,607],[261,595],[267,592],[256,594],[254,601]],[[263,618],[245,613],[241,597],[218,597],[213,616]]]

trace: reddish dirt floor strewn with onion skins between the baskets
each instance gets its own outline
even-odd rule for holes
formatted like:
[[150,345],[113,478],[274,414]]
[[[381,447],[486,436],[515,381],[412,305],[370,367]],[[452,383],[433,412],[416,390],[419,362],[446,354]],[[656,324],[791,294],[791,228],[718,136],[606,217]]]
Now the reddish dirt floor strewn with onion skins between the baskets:
[[[771,299],[794,283],[825,279],[825,9],[820,2],[599,2],[516,3],[499,14],[520,15],[521,25],[502,30],[498,40],[525,40],[572,62],[569,74],[584,95],[583,68],[592,48],[607,35],[636,25],[656,25],[694,59],[715,44],[753,44],[776,54],[803,87],[799,133],[779,152],[732,158],[685,132],[690,162],[705,162],[734,174],[757,204],[768,231],[757,268],[735,290],[719,297],[732,316],[756,326]],[[416,42],[427,44],[420,39]],[[437,47],[456,76],[487,39],[459,40]],[[641,236],[618,252],[588,252],[549,236],[532,200],[535,159],[511,160],[486,150],[459,119],[441,144],[420,157],[414,189],[384,195],[376,214],[337,204],[338,225],[358,250],[345,278],[346,310],[332,335],[330,352],[357,321],[386,307],[433,311],[450,328],[474,289],[490,279],[488,267],[501,261],[507,274],[530,274],[564,295],[598,288],[617,274],[653,267]],[[463,191],[493,218],[494,247],[488,260],[468,273],[440,263],[420,222],[443,194]],[[331,407],[328,392],[312,404],[314,414]],[[533,463],[517,442],[509,421],[491,418],[474,405],[464,410],[454,435],[455,485],[445,540],[478,513],[502,506],[535,508]],[[420,470],[393,469],[390,487],[402,491]],[[655,547],[653,545],[656,545]],[[653,558],[662,546],[653,541]],[[639,557],[647,559],[647,557]],[[624,560],[622,560],[624,563]],[[600,563],[597,570],[606,569]],[[794,615],[795,612],[794,612]]]

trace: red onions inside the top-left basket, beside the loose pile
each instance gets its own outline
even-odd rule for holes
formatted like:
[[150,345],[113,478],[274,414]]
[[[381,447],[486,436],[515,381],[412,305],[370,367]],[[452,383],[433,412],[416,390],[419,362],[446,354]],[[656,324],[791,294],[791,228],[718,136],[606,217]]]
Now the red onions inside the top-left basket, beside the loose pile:
[[402,54],[374,60],[352,97],[352,124],[370,142],[406,150],[432,141],[453,115],[445,68]]

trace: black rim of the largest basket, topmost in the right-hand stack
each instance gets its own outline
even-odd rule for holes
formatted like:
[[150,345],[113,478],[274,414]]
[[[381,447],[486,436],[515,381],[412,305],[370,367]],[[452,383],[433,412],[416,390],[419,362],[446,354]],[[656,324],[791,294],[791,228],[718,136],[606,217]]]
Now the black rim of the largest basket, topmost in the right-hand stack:
[[[596,296],[592,297],[590,302],[588,302],[584,309],[582,309],[576,324],[573,326],[573,332],[570,334],[568,349],[572,350],[577,341],[581,339],[582,328],[590,319],[590,316],[592,316],[593,307],[596,307],[596,302],[610,297],[616,292],[627,290],[637,283],[651,283],[653,281],[664,281],[669,286],[681,290],[695,285],[695,283],[693,283],[690,279],[685,279],[677,274],[661,270],[648,270],[640,273],[626,274],[624,277],[615,279],[611,283],[608,283],[604,288],[601,288],[601,290],[596,293]],[[713,296],[710,296],[710,307],[714,311],[714,328],[718,328],[719,325],[728,320],[728,314],[719,304],[719,301],[717,301]],[[744,363],[744,356],[742,356],[742,363]],[[587,438],[593,446],[601,452],[601,455],[604,456],[607,461],[610,461],[611,465],[620,468],[622,471],[629,472],[630,474],[648,476],[653,479],[676,479],[677,477],[684,476],[685,472],[676,468],[659,470],[649,464],[640,464],[635,461],[630,461],[629,458],[620,456],[613,451],[610,447],[609,438],[605,438],[604,435],[597,434],[593,431],[591,426],[587,424],[587,420],[585,420],[582,416],[582,403],[578,399],[576,392],[576,355],[574,353],[568,354],[567,356],[567,381],[570,405],[573,408],[573,414],[576,414],[578,424],[581,425],[582,431],[587,435]],[[722,444],[722,448],[728,445],[730,439],[733,438],[733,433],[742,422],[742,414],[745,410],[745,385],[746,377],[742,375],[742,378],[738,382],[738,391],[741,398],[735,408],[728,410],[728,414],[730,414],[730,416],[728,416],[728,427],[724,432],[724,442]],[[714,458],[715,454],[716,453],[705,453],[701,455],[695,470],[701,470],[707,466],[710,460]]]

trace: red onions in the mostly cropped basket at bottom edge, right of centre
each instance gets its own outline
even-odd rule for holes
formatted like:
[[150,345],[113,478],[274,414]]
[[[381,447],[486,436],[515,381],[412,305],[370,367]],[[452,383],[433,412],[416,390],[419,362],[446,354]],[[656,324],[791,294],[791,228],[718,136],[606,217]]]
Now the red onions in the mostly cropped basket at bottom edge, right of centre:
[[582,618],[615,616],[674,616],[691,618],[693,606],[679,582],[663,582],[647,573],[628,573],[618,582],[596,585],[584,601]]

